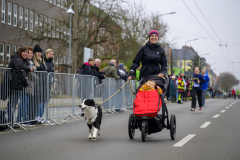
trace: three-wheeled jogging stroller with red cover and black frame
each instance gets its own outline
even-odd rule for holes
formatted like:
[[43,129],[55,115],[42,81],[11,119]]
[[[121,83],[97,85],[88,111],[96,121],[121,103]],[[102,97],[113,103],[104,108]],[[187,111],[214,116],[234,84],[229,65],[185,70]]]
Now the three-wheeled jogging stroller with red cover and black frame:
[[[154,81],[163,90],[163,94],[159,96],[157,90],[137,92],[133,103],[134,113],[130,114],[128,121],[129,138],[133,139],[135,129],[139,128],[142,141],[145,142],[148,134],[157,133],[163,128],[167,128],[170,130],[171,139],[174,140],[176,137],[176,116],[172,114],[169,122],[167,106],[164,103],[168,78],[149,76],[140,82],[139,88],[149,80]],[[160,109],[162,109],[162,114],[158,114]]]

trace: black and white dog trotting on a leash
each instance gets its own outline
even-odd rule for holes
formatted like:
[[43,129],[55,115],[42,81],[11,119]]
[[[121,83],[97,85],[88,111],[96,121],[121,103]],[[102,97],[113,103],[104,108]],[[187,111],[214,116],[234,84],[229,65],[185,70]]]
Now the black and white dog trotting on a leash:
[[100,136],[102,107],[100,105],[95,106],[93,99],[84,99],[79,107],[84,111],[85,119],[89,127],[88,139],[96,140],[97,135]]

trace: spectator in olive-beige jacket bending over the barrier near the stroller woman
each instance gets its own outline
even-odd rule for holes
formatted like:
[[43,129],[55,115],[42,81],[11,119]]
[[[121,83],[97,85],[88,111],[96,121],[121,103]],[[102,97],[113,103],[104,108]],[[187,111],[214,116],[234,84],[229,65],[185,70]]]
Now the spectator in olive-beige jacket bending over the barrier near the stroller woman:
[[112,59],[108,66],[103,69],[106,77],[120,79],[120,76],[117,75],[116,60]]

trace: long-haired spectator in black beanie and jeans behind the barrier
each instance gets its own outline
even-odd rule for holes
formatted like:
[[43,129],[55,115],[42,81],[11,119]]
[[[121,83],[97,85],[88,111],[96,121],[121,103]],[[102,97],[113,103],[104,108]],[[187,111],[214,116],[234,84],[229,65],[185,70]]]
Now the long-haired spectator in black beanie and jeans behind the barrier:
[[[37,71],[47,71],[47,66],[44,61],[42,49],[39,45],[35,45],[33,49],[33,63],[37,67]],[[39,83],[36,85],[36,105],[37,105],[37,117],[38,122],[42,122],[44,119],[44,108],[47,102],[47,73],[37,73]],[[44,122],[44,121],[43,121]]]

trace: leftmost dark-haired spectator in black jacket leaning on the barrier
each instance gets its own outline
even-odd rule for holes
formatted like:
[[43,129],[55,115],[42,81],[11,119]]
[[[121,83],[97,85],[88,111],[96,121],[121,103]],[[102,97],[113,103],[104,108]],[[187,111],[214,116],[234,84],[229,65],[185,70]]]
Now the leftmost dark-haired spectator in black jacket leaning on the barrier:
[[[28,51],[29,50],[26,47],[19,48],[17,53],[14,53],[13,56],[11,57],[8,67],[19,68],[26,72],[33,72],[34,68],[28,66],[28,61],[27,61]],[[13,79],[12,83],[18,84],[18,80]],[[18,90],[20,92],[18,92]],[[13,118],[14,118],[13,114],[15,112],[16,105],[18,103],[18,98],[20,94],[22,94],[22,88],[18,88],[18,90],[11,90],[11,96],[7,104],[8,121],[11,122],[12,124],[13,124]]]

